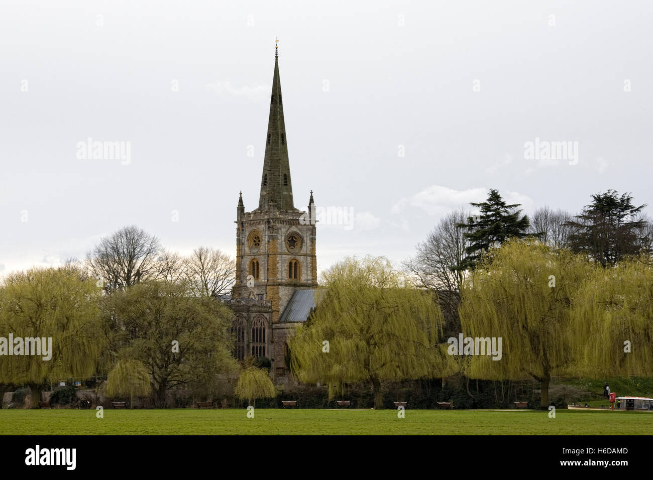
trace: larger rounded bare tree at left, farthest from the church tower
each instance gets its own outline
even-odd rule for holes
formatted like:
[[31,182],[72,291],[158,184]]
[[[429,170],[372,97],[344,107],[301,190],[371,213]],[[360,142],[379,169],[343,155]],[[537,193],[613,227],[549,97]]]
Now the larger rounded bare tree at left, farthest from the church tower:
[[86,266],[106,291],[125,289],[158,276],[160,252],[158,238],[132,225],[101,238],[86,255]]

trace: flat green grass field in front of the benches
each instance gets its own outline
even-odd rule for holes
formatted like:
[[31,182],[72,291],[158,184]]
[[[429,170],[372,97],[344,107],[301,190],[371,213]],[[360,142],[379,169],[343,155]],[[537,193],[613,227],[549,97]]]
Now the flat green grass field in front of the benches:
[[651,435],[653,413],[256,409],[0,410],[4,435]]

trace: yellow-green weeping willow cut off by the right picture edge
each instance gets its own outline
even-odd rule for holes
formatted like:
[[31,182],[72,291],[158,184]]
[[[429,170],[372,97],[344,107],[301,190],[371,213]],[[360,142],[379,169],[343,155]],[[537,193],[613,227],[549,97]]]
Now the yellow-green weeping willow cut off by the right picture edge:
[[622,261],[597,269],[573,309],[571,338],[590,377],[650,376],[653,371],[653,266]]

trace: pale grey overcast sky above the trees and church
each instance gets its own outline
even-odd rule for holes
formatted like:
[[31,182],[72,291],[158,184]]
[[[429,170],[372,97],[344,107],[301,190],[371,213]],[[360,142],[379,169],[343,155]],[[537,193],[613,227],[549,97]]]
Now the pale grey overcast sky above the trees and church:
[[[652,13],[1,0],[0,274],[82,258],[132,224],[181,253],[235,255],[238,191],[247,211],[259,200],[276,37],[295,206],[313,190],[318,207],[353,212],[318,225],[320,270],[400,262],[489,188],[526,212],[578,212],[609,188],[653,205]],[[126,142],[129,158],[84,157],[88,138]],[[536,138],[571,142],[568,158],[528,158]]]

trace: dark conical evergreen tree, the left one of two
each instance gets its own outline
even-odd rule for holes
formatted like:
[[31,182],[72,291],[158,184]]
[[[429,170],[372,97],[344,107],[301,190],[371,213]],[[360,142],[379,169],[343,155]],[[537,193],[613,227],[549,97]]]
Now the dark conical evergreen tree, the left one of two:
[[467,230],[464,235],[470,245],[466,248],[468,256],[459,266],[452,266],[455,270],[473,270],[483,253],[500,246],[508,238],[524,238],[530,227],[528,216],[522,216],[522,210],[517,209],[521,204],[507,205],[496,189],[490,189],[485,202],[471,203],[471,206],[481,213],[468,217],[467,223],[458,224]]

